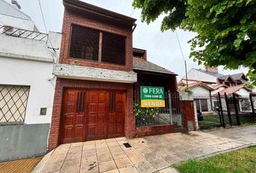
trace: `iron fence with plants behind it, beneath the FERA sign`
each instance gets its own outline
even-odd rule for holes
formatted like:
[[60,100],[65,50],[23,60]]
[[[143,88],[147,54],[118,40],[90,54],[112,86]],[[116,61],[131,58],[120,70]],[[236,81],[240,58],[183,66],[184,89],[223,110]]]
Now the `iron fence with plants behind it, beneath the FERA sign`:
[[165,124],[174,124],[175,127],[182,127],[183,125],[182,102],[179,93],[166,92],[165,107],[141,107],[140,94],[138,93],[135,93],[134,102],[137,127]]

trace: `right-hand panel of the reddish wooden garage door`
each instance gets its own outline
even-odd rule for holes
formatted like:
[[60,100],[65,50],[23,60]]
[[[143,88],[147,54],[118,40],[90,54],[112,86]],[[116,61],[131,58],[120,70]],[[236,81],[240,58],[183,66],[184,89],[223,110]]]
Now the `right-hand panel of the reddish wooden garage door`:
[[108,94],[108,138],[124,136],[126,95],[124,92]]

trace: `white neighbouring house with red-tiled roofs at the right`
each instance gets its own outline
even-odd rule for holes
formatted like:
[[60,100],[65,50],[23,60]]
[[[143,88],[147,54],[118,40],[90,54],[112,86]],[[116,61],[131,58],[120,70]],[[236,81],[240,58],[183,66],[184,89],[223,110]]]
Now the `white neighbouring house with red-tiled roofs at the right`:
[[210,99],[207,99],[207,95],[217,97],[218,93],[221,94],[221,97],[224,96],[224,93],[229,97],[235,94],[236,97],[239,97],[239,110],[249,111],[251,110],[249,107],[249,93],[252,90],[244,85],[247,81],[249,79],[243,73],[223,75],[218,73],[218,68],[205,67],[205,70],[192,68],[187,73],[187,79],[184,77],[179,81],[178,88],[179,91],[186,87],[192,90],[198,98],[195,99],[197,110],[201,112],[207,112],[218,106],[217,101],[210,103]]

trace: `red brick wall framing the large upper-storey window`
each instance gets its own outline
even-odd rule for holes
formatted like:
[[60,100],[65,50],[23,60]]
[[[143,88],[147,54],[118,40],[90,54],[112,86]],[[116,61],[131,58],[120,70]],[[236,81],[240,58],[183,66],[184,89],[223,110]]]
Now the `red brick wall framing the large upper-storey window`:
[[[126,40],[126,65],[119,66],[111,63],[98,63],[97,61],[84,61],[80,59],[69,58],[69,40],[71,34],[72,24],[80,25],[83,27],[90,27],[95,30],[101,30],[104,32],[111,32],[117,35],[123,35],[127,37]],[[59,63],[72,64],[75,63],[78,66],[91,66],[96,68],[106,68],[111,70],[121,70],[121,71],[132,71],[132,27],[124,28],[117,27],[111,24],[98,22],[93,19],[81,17],[78,14],[73,14],[67,9],[64,11],[64,19],[62,25],[62,40],[61,40],[61,50]]]

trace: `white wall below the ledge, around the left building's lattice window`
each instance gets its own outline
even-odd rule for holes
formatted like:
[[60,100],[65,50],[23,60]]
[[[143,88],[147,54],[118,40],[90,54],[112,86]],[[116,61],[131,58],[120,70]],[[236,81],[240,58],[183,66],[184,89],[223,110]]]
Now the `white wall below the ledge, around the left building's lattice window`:
[[[0,58],[0,84],[30,86],[25,123],[51,123],[54,100],[53,63]],[[12,71],[12,72],[11,72]],[[40,107],[47,107],[47,115],[40,115]]]

